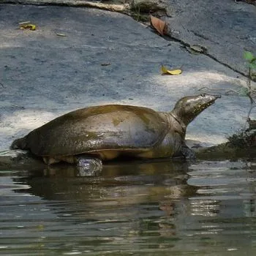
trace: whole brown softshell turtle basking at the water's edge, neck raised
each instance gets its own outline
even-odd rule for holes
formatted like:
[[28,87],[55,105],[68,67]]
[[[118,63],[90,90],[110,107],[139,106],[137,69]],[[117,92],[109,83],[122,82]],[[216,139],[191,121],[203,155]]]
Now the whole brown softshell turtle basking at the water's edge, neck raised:
[[101,169],[102,160],[120,156],[193,157],[184,143],[187,125],[219,97],[184,97],[168,113],[131,105],[82,108],[34,129],[11,148],[27,149],[48,165],[64,161],[86,169]]

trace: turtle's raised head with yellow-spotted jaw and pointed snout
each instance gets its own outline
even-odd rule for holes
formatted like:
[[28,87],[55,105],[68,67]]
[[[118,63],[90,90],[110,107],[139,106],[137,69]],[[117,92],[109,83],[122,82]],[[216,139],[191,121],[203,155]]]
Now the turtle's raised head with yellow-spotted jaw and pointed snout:
[[215,100],[220,97],[220,95],[211,94],[184,97],[176,103],[171,113],[183,121],[187,127],[196,116],[214,104]]

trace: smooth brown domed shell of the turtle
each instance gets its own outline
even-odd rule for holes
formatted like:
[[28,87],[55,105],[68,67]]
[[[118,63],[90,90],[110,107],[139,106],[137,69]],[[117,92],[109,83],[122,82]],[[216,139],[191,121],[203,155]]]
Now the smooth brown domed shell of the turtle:
[[34,129],[23,149],[42,157],[100,151],[147,151],[161,143],[167,121],[157,111],[130,105],[82,108]]

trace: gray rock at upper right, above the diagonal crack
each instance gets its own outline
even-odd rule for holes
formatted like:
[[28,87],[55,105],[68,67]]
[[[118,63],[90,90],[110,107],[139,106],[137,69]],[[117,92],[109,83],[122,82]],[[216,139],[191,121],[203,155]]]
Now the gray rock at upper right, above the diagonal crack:
[[[248,70],[244,50],[256,52],[256,7],[235,0],[167,0],[173,6],[167,18],[173,37],[202,45],[208,55],[243,74]],[[172,33],[170,33],[172,34]]]

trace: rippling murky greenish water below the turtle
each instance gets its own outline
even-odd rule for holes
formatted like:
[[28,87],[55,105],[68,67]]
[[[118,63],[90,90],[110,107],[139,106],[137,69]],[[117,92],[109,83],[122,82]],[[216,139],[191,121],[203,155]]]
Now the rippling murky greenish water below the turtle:
[[256,162],[0,171],[0,255],[255,255]]

